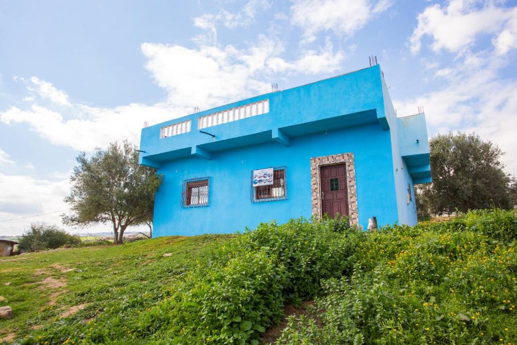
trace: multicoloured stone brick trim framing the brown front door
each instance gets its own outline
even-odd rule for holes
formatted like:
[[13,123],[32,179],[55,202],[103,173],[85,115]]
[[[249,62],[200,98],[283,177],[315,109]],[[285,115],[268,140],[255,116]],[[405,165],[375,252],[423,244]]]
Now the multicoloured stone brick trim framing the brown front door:
[[357,212],[357,187],[355,180],[355,163],[353,153],[341,153],[338,155],[313,157],[311,158],[311,189],[312,189],[312,214],[322,216],[321,211],[321,183],[320,167],[333,164],[345,163],[346,182],[348,187],[348,212],[351,223],[359,225],[359,214]]

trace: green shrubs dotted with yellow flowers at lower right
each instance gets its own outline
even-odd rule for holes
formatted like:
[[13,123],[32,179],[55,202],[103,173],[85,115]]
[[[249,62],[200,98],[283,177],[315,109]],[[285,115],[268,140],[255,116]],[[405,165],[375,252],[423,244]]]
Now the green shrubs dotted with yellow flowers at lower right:
[[290,320],[277,344],[513,343],[517,254],[485,235],[509,214],[369,233],[354,274],[323,281],[318,317]]

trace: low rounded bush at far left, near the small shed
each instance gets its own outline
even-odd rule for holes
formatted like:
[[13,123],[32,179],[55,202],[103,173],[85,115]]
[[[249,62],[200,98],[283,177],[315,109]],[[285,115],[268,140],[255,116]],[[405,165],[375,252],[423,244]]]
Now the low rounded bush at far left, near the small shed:
[[20,249],[28,251],[55,249],[63,245],[81,243],[81,237],[70,235],[59,227],[45,223],[32,223],[20,238]]

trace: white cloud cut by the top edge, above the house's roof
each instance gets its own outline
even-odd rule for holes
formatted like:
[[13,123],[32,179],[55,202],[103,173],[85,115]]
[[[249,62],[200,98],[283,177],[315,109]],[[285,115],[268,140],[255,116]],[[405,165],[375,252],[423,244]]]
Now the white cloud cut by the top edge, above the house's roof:
[[302,42],[312,42],[320,31],[352,36],[379,13],[386,11],[391,1],[380,0],[295,0],[291,6],[291,22],[302,28]]

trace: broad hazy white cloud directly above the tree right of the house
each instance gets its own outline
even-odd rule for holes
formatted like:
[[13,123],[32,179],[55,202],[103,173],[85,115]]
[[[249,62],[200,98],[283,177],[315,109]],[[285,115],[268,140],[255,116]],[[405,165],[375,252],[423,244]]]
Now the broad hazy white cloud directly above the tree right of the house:
[[506,152],[503,161],[508,171],[517,175],[517,136],[512,130],[517,128],[517,81],[499,79],[498,71],[506,64],[494,52],[467,57],[449,68],[438,91],[395,101],[395,107],[399,114],[410,115],[423,105],[430,135],[474,131],[491,140]]

